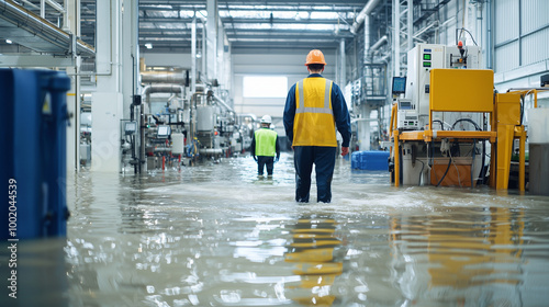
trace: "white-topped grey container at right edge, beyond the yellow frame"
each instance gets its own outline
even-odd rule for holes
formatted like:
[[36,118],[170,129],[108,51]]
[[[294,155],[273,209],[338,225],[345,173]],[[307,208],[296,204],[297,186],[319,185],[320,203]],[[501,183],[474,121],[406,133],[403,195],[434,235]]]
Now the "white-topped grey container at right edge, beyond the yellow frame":
[[528,110],[528,191],[549,195],[549,109]]

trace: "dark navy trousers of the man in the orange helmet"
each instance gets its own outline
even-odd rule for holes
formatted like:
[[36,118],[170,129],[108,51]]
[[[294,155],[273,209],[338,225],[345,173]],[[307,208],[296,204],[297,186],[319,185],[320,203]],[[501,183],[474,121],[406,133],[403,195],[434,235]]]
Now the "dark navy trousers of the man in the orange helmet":
[[296,202],[309,202],[313,164],[316,172],[317,202],[329,203],[332,201],[332,177],[336,164],[336,147],[318,146],[295,146],[293,148]]

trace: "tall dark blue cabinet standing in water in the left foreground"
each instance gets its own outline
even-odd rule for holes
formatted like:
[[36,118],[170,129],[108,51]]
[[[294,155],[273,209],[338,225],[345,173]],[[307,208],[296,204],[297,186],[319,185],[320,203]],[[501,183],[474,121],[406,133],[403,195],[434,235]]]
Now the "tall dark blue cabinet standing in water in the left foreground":
[[0,69],[2,239],[67,232],[69,89],[70,79],[64,72]]

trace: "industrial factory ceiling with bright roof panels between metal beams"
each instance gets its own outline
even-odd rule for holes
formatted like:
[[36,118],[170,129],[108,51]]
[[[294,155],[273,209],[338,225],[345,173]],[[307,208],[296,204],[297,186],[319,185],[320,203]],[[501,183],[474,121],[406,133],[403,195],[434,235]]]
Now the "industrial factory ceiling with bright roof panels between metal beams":
[[[60,0],[46,0],[47,5],[42,11],[42,0],[2,2],[20,4],[37,16],[42,14],[48,23],[63,26]],[[92,47],[96,46],[96,2],[80,1],[81,39]],[[351,33],[352,23],[366,2],[217,0],[217,14],[229,43],[226,45],[231,46],[233,53],[278,48],[335,49],[341,39],[355,37]],[[380,1],[378,12],[383,13],[384,2]],[[139,0],[139,47],[144,50],[147,44],[147,53],[189,53],[193,19],[197,19],[197,35],[200,39],[208,19],[206,0]],[[4,42],[0,44],[5,45]]]

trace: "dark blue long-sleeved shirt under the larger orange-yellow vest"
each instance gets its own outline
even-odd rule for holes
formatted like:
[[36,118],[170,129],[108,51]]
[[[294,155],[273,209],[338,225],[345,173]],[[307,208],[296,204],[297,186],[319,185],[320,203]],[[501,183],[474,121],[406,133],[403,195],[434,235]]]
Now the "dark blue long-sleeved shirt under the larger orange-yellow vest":
[[[321,77],[320,73],[311,73],[307,78]],[[336,83],[332,83],[332,111],[336,121],[337,130],[341,134],[341,147],[349,147],[350,141],[350,115],[341,90]],[[284,129],[285,135],[293,141],[293,120],[295,117],[295,84],[288,92],[284,106]]]

